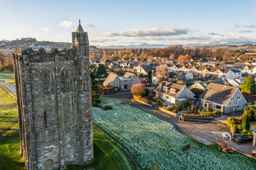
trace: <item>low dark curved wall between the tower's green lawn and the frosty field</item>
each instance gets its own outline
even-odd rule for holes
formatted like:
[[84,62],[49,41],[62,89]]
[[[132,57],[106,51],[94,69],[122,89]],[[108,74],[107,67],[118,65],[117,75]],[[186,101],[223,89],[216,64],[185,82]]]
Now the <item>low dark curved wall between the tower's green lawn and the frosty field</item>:
[[124,146],[122,146],[117,140],[115,140],[113,137],[111,137],[111,134],[109,134],[107,131],[103,130],[97,123],[93,122],[93,125],[95,125],[101,132],[103,132],[105,135],[107,135],[107,137],[109,139],[111,139],[111,141],[113,141],[114,143],[116,143],[116,145],[123,149],[123,151],[129,156],[129,158],[131,159],[132,161],[132,164],[134,166],[134,169],[135,170],[140,170],[140,168],[138,167],[136,161],[135,161],[135,158],[132,156],[132,154],[130,153],[129,150],[127,150]]

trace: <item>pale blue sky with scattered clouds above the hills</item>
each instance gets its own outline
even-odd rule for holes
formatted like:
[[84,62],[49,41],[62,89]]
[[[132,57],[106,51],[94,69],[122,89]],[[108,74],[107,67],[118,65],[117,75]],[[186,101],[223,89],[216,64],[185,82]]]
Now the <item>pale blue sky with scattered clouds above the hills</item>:
[[71,42],[78,19],[91,45],[256,41],[256,1],[5,1],[0,40]]

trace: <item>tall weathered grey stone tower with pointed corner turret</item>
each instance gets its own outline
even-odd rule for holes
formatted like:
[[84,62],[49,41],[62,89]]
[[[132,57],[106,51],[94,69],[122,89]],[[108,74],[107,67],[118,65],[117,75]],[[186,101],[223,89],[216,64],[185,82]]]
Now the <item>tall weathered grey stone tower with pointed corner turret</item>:
[[69,49],[13,50],[20,148],[27,169],[93,160],[89,40],[80,24]]

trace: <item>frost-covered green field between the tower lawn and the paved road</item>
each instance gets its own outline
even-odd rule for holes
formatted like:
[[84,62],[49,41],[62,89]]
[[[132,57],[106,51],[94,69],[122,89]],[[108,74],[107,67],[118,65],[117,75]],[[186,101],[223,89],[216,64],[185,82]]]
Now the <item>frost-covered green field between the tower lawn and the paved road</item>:
[[[240,154],[225,154],[182,135],[170,123],[114,99],[102,99],[93,119],[131,152],[138,165],[160,169],[256,169],[256,161]],[[188,151],[181,148],[189,143]]]

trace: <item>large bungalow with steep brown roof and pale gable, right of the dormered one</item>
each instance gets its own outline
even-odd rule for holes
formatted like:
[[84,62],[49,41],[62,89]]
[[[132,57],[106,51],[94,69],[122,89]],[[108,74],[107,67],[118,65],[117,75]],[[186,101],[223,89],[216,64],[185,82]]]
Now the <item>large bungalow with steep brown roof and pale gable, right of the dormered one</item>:
[[199,99],[205,110],[217,110],[228,114],[242,111],[246,101],[238,88],[210,83]]

